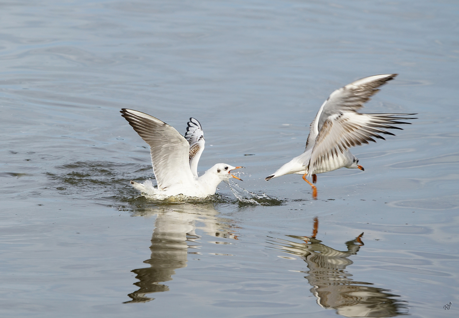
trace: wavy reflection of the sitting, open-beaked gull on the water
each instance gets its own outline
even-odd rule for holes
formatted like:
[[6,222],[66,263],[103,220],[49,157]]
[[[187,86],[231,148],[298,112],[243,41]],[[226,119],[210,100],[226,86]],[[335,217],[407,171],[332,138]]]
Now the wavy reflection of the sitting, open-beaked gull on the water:
[[[168,291],[169,287],[160,284],[172,280],[175,269],[186,267],[189,248],[197,248],[200,236],[196,235],[196,228],[203,230],[211,236],[233,238],[237,240],[234,232],[231,232],[229,219],[218,217],[218,211],[213,205],[193,205],[189,203],[169,205],[167,208],[155,208],[136,215],[157,214],[155,230],[151,237],[151,258],[144,261],[150,267],[134,269],[135,278],[140,280],[134,285],[139,290],[128,296],[131,301],[125,302],[149,302],[154,298],[147,294]],[[202,223],[203,227],[196,227],[196,223]]]

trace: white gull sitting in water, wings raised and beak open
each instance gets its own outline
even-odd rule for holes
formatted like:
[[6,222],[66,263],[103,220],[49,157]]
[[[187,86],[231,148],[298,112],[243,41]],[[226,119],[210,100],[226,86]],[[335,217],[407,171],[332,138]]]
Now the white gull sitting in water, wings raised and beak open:
[[231,177],[241,180],[230,172],[244,167],[229,164],[215,164],[198,177],[197,166],[205,140],[201,124],[196,119],[190,118],[183,137],[174,127],[151,115],[124,108],[121,113],[150,146],[157,187],[150,180],[143,184],[131,181],[140,192],[159,200],[177,195],[204,198],[215,194],[221,181],[228,181]]

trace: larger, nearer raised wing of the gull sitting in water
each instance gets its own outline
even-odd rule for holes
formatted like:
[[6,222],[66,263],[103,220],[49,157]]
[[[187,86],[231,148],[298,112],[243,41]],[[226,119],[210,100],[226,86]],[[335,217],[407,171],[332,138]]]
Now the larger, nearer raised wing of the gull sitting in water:
[[122,116],[150,145],[151,164],[158,189],[168,186],[192,186],[194,176],[188,164],[190,145],[186,139],[159,119],[136,110],[122,109]]

